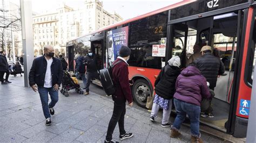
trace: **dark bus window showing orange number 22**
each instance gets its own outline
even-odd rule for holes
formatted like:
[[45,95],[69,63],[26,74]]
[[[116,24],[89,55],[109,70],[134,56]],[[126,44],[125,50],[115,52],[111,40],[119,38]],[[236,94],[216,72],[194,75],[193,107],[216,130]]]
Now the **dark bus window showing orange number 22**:
[[129,25],[130,66],[161,69],[163,57],[153,56],[153,45],[166,38],[167,11],[131,22]]

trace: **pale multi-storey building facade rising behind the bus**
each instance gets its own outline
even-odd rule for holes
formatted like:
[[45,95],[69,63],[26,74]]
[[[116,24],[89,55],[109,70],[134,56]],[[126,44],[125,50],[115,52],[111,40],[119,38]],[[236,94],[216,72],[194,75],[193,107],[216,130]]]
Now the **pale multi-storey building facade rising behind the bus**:
[[86,0],[83,9],[61,5],[55,13],[33,16],[35,55],[43,55],[43,47],[51,45],[56,55],[65,55],[66,42],[123,20],[117,13],[103,9],[99,0]]

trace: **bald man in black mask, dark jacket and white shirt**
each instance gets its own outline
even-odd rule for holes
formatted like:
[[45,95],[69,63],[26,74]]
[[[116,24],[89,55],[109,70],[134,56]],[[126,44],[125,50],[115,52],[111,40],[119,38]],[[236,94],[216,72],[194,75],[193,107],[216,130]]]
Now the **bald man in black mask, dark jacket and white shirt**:
[[[53,48],[45,46],[44,56],[33,60],[29,72],[29,84],[33,91],[39,92],[41,98],[46,126],[51,125],[51,115],[55,113],[53,107],[58,102],[58,90],[63,78],[62,63],[53,56]],[[51,96],[49,105],[48,93]]]

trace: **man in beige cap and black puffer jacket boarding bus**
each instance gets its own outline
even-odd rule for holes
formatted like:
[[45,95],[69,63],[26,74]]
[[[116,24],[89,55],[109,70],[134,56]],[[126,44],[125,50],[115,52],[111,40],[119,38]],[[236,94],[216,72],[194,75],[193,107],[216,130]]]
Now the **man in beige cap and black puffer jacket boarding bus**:
[[[212,54],[211,46],[202,47],[201,54],[201,58],[198,58],[195,63],[197,64],[198,69],[201,71],[201,74],[206,78],[207,82],[210,83],[209,88],[214,90],[218,75],[225,73],[223,62]],[[211,101],[212,99],[210,100],[209,108],[206,111],[201,112],[201,117],[214,117]]]

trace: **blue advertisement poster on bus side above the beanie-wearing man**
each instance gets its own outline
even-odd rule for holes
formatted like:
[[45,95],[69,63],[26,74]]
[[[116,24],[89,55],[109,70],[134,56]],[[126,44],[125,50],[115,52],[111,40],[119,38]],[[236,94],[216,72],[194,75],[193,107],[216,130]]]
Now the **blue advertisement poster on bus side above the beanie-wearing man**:
[[109,52],[109,64],[111,65],[119,55],[122,45],[128,45],[128,26],[107,32],[107,48]]

